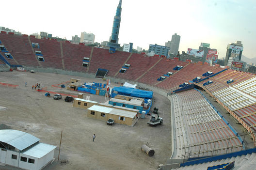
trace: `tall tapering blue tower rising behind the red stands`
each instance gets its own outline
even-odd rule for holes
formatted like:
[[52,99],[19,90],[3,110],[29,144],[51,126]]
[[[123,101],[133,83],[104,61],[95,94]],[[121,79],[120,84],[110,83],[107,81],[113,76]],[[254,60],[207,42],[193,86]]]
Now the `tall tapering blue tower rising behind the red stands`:
[[118,34],[119,34],[119,28],[120,28],[120,22],[121,22],[121,12],[122,12],[121,6],[122,6],[122,0],[119,0],[119,4],[116,8],[116,13],[114,16],[111,38],[107,44],[107,46],[109,46],[109,52],[111,54],[116,51],[116,48],[120,48],[120,44],[118,44]]

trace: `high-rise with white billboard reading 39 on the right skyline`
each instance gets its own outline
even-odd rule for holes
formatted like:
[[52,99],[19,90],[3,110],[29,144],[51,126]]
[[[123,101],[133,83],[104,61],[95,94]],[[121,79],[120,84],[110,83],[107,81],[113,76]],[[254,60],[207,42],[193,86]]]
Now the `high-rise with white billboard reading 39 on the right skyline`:
[[227,45],[227,52],[226,52],[226,58],[225,58],[225,65],[227,65],[227,62],[230,57],[238,59],[238,61],[241,60],[243,51],[243,46],[241,41],[236,41],[235,43],[229,43]]

